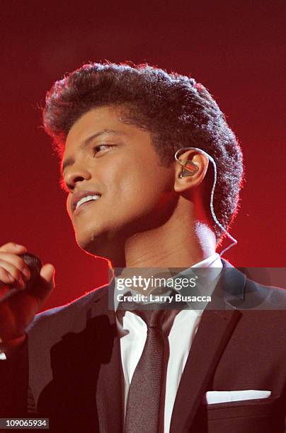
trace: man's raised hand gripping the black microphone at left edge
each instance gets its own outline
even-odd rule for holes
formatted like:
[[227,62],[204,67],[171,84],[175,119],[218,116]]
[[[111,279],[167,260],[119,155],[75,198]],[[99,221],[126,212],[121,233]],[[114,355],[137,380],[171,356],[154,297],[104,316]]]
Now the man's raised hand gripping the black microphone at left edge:
[[[24,340],[25,328],[40,310],[55,287],[55,267],[47,264],[40,270],[41,283],[25,289],[30,270],[19,254],[26,253],[24,246],[13,242],[0,247],[0,349],[9,342]],[[4,296],[13,287],[11,296]],[[13,343],[12,343],[13,344]]]

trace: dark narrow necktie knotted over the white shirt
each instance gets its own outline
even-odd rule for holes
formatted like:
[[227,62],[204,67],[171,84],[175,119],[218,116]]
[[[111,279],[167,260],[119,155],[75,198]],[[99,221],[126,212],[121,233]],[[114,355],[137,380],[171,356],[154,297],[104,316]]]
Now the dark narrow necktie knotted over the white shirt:
[[164,380],[162,320],[166,311],[158,309],[158,304],[149,304],[148,309],[144,310],[135,310],[135,305],[131,302],[121,303],[122,308],[134,311],[147,324],[147,340],[130,383],[124,432],[158,433]]

